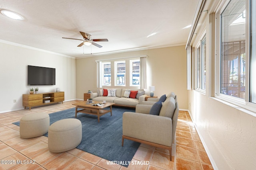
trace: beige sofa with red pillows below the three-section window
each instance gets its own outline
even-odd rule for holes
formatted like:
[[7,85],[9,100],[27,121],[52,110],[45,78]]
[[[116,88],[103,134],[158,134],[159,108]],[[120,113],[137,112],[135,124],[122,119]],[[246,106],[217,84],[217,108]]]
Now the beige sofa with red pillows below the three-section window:
[[[111,88],[112,89],[112,88]],[[141,96],[138,95],[136,98],[124,98],[124,92],[126,88],[115,88],[116,89],[116,95],[114,97],[108,97],[108,96],[99,96],[97,93],[92,93],[90,96],[93,101],[102,102],[103,100],[106,100],[106,102],[115,103],[114,106],[124,106],[124,107],[136,107],[138,104],[142,104],[143,101],[145,101],[145,91],[144,89],[128,89],[133,91],[141,92]],[[144,93],[143,93],[144,92]]]

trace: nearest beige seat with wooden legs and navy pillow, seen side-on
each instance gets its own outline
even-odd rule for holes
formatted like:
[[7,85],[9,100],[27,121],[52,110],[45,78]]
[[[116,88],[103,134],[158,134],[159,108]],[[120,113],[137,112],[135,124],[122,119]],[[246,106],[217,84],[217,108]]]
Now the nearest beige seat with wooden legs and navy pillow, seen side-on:
[[179,113],[177,97],[176,100],[167,97],[162,103],[159,115],[149,114],[152,107],[139,104],[136,106],[136,113],[124,112],[122,146],[124,139],[128,139],[168,149],[172,160],[172,143],[175,139]]

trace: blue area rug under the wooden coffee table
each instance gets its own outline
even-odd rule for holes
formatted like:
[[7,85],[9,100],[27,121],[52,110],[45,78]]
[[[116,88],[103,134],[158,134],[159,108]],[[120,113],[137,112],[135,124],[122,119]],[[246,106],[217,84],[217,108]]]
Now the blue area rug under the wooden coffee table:
[[[77,113],[76,119],[82,122],[82,141],[76,148],[110,161],[131,161],[140,143],[125,140],[122,147],[122,115],[125,111],[135,112],[135,109],[112,107],[112,116],[106,113],[100,117],[99,123],[96,115]],[[49,116],[50,125],[61,119],[75,118],[75,108]],[[19,126],[20,122],[13,124]],[[48,133],[44,136],[48,137]]]

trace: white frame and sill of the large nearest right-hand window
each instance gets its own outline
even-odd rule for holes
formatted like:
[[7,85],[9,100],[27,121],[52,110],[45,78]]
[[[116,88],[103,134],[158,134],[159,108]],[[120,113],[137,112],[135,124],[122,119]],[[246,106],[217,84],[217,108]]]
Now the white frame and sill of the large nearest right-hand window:
[[234,96],[228,96],[225,94],[220,93],[220,88],[221,88],[221,29],[222,29],[222,24],[221,24],[221,14],[224,12],[228,4],[230,3],[230,0],[226,0],[223,2],[223,5],[217,9],[215,13],[215,60],[214,60],[214,74],[215,74],[215,91],[214,91],[214,97],[220,100],[223,100],[225,102],[228,102],[230,104],[234,104],[236,106],[240,106],[242,108],[251,110],[251,111],[256,111],[256,104],[249,102],[249,93],[250,93],[250,19],[251,19],[251,11],[250,11],[250,3],[249,1],[246,0],[246,38],[245,38],[245,53],[246,53],[246,85],[245,85],[245,99],[242,98],[237,98]]

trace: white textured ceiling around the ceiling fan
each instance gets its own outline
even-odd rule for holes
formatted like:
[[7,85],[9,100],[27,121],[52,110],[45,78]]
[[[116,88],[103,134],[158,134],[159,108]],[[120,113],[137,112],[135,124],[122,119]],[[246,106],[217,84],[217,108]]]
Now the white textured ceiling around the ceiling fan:
[[[184,45],[198,0],[0,0],[0,40],[72,57],[136,48]],[[77,47],[83,39],[107,38],[102,45]],[[156,33],[147,38],[151,33]]]

